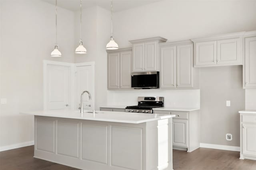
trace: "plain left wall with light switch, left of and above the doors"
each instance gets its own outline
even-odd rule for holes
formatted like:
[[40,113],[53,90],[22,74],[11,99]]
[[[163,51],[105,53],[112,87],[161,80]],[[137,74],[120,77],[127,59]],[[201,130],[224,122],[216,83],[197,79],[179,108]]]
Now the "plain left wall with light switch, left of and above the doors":
[[74,63],[74,13],[58,8],[61,58],[55,43],[55,6],[34,0],[1,0],[0,150],[34,140],[33,117],[20,111],[43,109],[45,60]]

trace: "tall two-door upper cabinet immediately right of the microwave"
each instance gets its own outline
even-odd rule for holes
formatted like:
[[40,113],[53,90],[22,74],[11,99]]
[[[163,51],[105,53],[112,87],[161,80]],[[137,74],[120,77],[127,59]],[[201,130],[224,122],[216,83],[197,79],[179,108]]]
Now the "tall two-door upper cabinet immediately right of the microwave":
[[161,43],[161,71],[160,88],[193,88],[193,43],[179,41],[174,43]]

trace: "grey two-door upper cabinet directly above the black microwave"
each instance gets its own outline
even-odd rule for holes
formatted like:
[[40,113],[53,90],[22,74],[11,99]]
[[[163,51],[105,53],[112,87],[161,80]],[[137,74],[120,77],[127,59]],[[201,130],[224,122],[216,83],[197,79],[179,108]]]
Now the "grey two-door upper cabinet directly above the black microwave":
[[139,39],[132,43],[132,72],[158,71],[158,43],[166,42],[161,37]]

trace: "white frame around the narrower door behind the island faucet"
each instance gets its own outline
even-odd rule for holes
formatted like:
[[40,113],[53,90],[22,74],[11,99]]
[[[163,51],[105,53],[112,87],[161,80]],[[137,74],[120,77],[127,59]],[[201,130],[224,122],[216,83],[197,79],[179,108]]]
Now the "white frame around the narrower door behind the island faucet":
[[[92,61],[92,62],[84,62],[84,63],[74,63],[74,73],[76,73],[76,67],[79,67],[79,66],[92,66],[92,82],[93,82],[93,85],[92,85],[92,92],[91,95],[92,95],[92,105],[93,105],[93,109],[95,109],[95,62]],[[74,75],[74,74],[73,74]],[[74,92],[74,94],[76,94],[76,79],[75,79],[75,75],[74,75],[74,88],[72,90],[72,92]],[[73,95],[74,96],[74,95]],[[74,99],[72,100],[73,102],[73,107],[74,109],[75,108],[75,105],[76,105],[76,99],[74,97]]]

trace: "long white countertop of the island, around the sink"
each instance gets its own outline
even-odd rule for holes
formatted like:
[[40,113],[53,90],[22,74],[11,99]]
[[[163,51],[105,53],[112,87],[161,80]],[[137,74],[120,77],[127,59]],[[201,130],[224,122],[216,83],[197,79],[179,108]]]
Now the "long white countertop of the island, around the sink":
[[175,117],[175,115],[167,114],[127,113],[118,111],[96,111],[95,114],[84,112],[83,116],[81,116],[81,113],[75,110],[24,111],[21,114],[136,124]]

